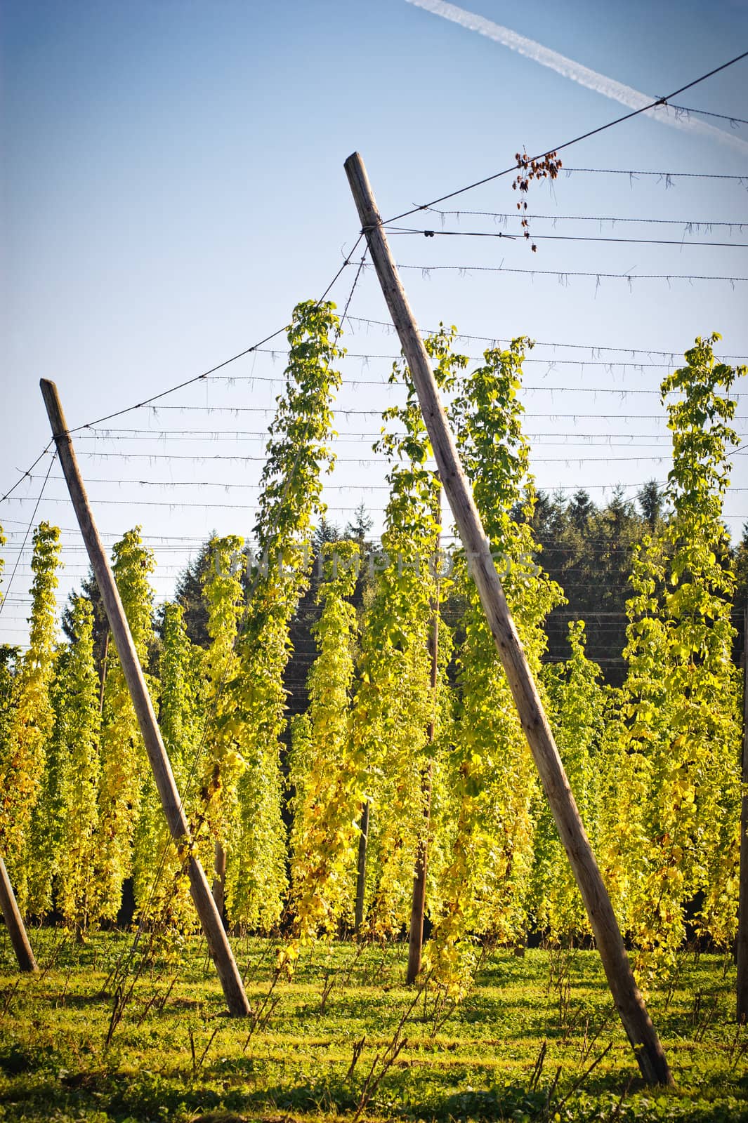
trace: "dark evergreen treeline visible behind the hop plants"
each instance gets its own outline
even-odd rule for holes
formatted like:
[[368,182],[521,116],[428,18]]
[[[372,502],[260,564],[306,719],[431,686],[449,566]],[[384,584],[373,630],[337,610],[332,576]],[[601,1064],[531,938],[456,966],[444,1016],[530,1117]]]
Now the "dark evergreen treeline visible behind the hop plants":
[[[445,512],[448,518],[448,513]],[[635,551],[646,537],[660,535],[672,511],[664,487],[656,481],[645,484],[635,500],[627,499],[617,489],[610,500],[595,503],[590,493],[580,489],[573,495],[538,492],[532,514],[532,531],[538,546],[535,560],[564,590],[565,603],[554,609],[545,621],[547,649],[545,661],[564,661],[571,654],[568,622],[584,620],[589,658],[600,667],[604,682],[620,686],[626,677],[626,633],[628,627],[627,602],[631,595],[631,574]],[[366,590],[372,585],[368,575],[381,564],[381,546],[371,535],[373,519],[365,504],[345,526],[322,515],[311,539],[309,588],[302,594],[291,624],[291,656],[284,684],[288,691],[289,714],[301,713],[308,704],[307,673],[309,660],[317,654],[311,628],[319,617],[314,596],[321,577],[322,548],[327,542],[353,541],[361,549],[361,576],[352,597],[357,610],[364,604]],[[720,564],[735,574],[732,620],[736,628],[735,660],[740,663],[744,650],[744,613],[748,606],[748,522],[740,541],[732,545],[726,539],[726,553]],[[188,638],[198,647],[208,647],[208,608],[203,584],[211,565],[210,540],[185,566],[175,584],[174,600],[184,612]],[[248,570],[243,585],[248,592]],[[81,585],[81,595],[91,601],[94,613],[94,656],[100,677],[103,674],[108,626],[103,604],[93,576]],[[163,606],[155,614],[155,634],[163,631]],[[450,619],[451,608],[444,603],[441,612]],[[73,637],[71,608],[63,612],[62,627],[66,638]],[[1,652],[4,651],[4,655]],[[8,661],[12,650],[0,648]]]

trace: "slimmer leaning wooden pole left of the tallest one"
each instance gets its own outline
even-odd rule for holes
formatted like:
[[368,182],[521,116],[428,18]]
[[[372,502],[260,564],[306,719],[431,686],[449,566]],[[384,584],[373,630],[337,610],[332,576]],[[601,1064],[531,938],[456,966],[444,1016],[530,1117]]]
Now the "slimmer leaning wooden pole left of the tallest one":
[[184,809],[182,807],[180,794],[176,789],[172,766],[168,763],[166,749],[161,739],[153,703],[145,678],[143,677],[143,669],[137,651],[135,650],[125,610],[122,609],[122,602],[120,601],[119,592],[109,567],[109,559],[101,545],[91,508],[89,506],[85,487],[83,486],[75,459],[73,442],[70,439],[60,398],[57,396],[57,387],[54,382],[47,382],[46,378],[42,378],[39,385],[42,386],[44,404],[47,408],[52,432],[57,446],[60,463],[65,473],[75,515],[81,528],[81,533],[83,535],[99,592],[107,610],[107,619],[109,620],[109,627],[115,638],[127,688],[133,699],[133,706],[138,719],[143,740],[145,741],[166,822],[168,823],[168,829],[176,848],[186,862],[190,877],[190,892],[206,934],[210,955],[216,964],[216,970],[224,988],[229,1014],[234,1017],[244,1017],[249,1013],[249,1003],[244,990],[241,976],[239,975],[228,938],[224,931],[224,924],[216,909],[216,902],[210,892],[206,874],[192,853],[190,828]]

